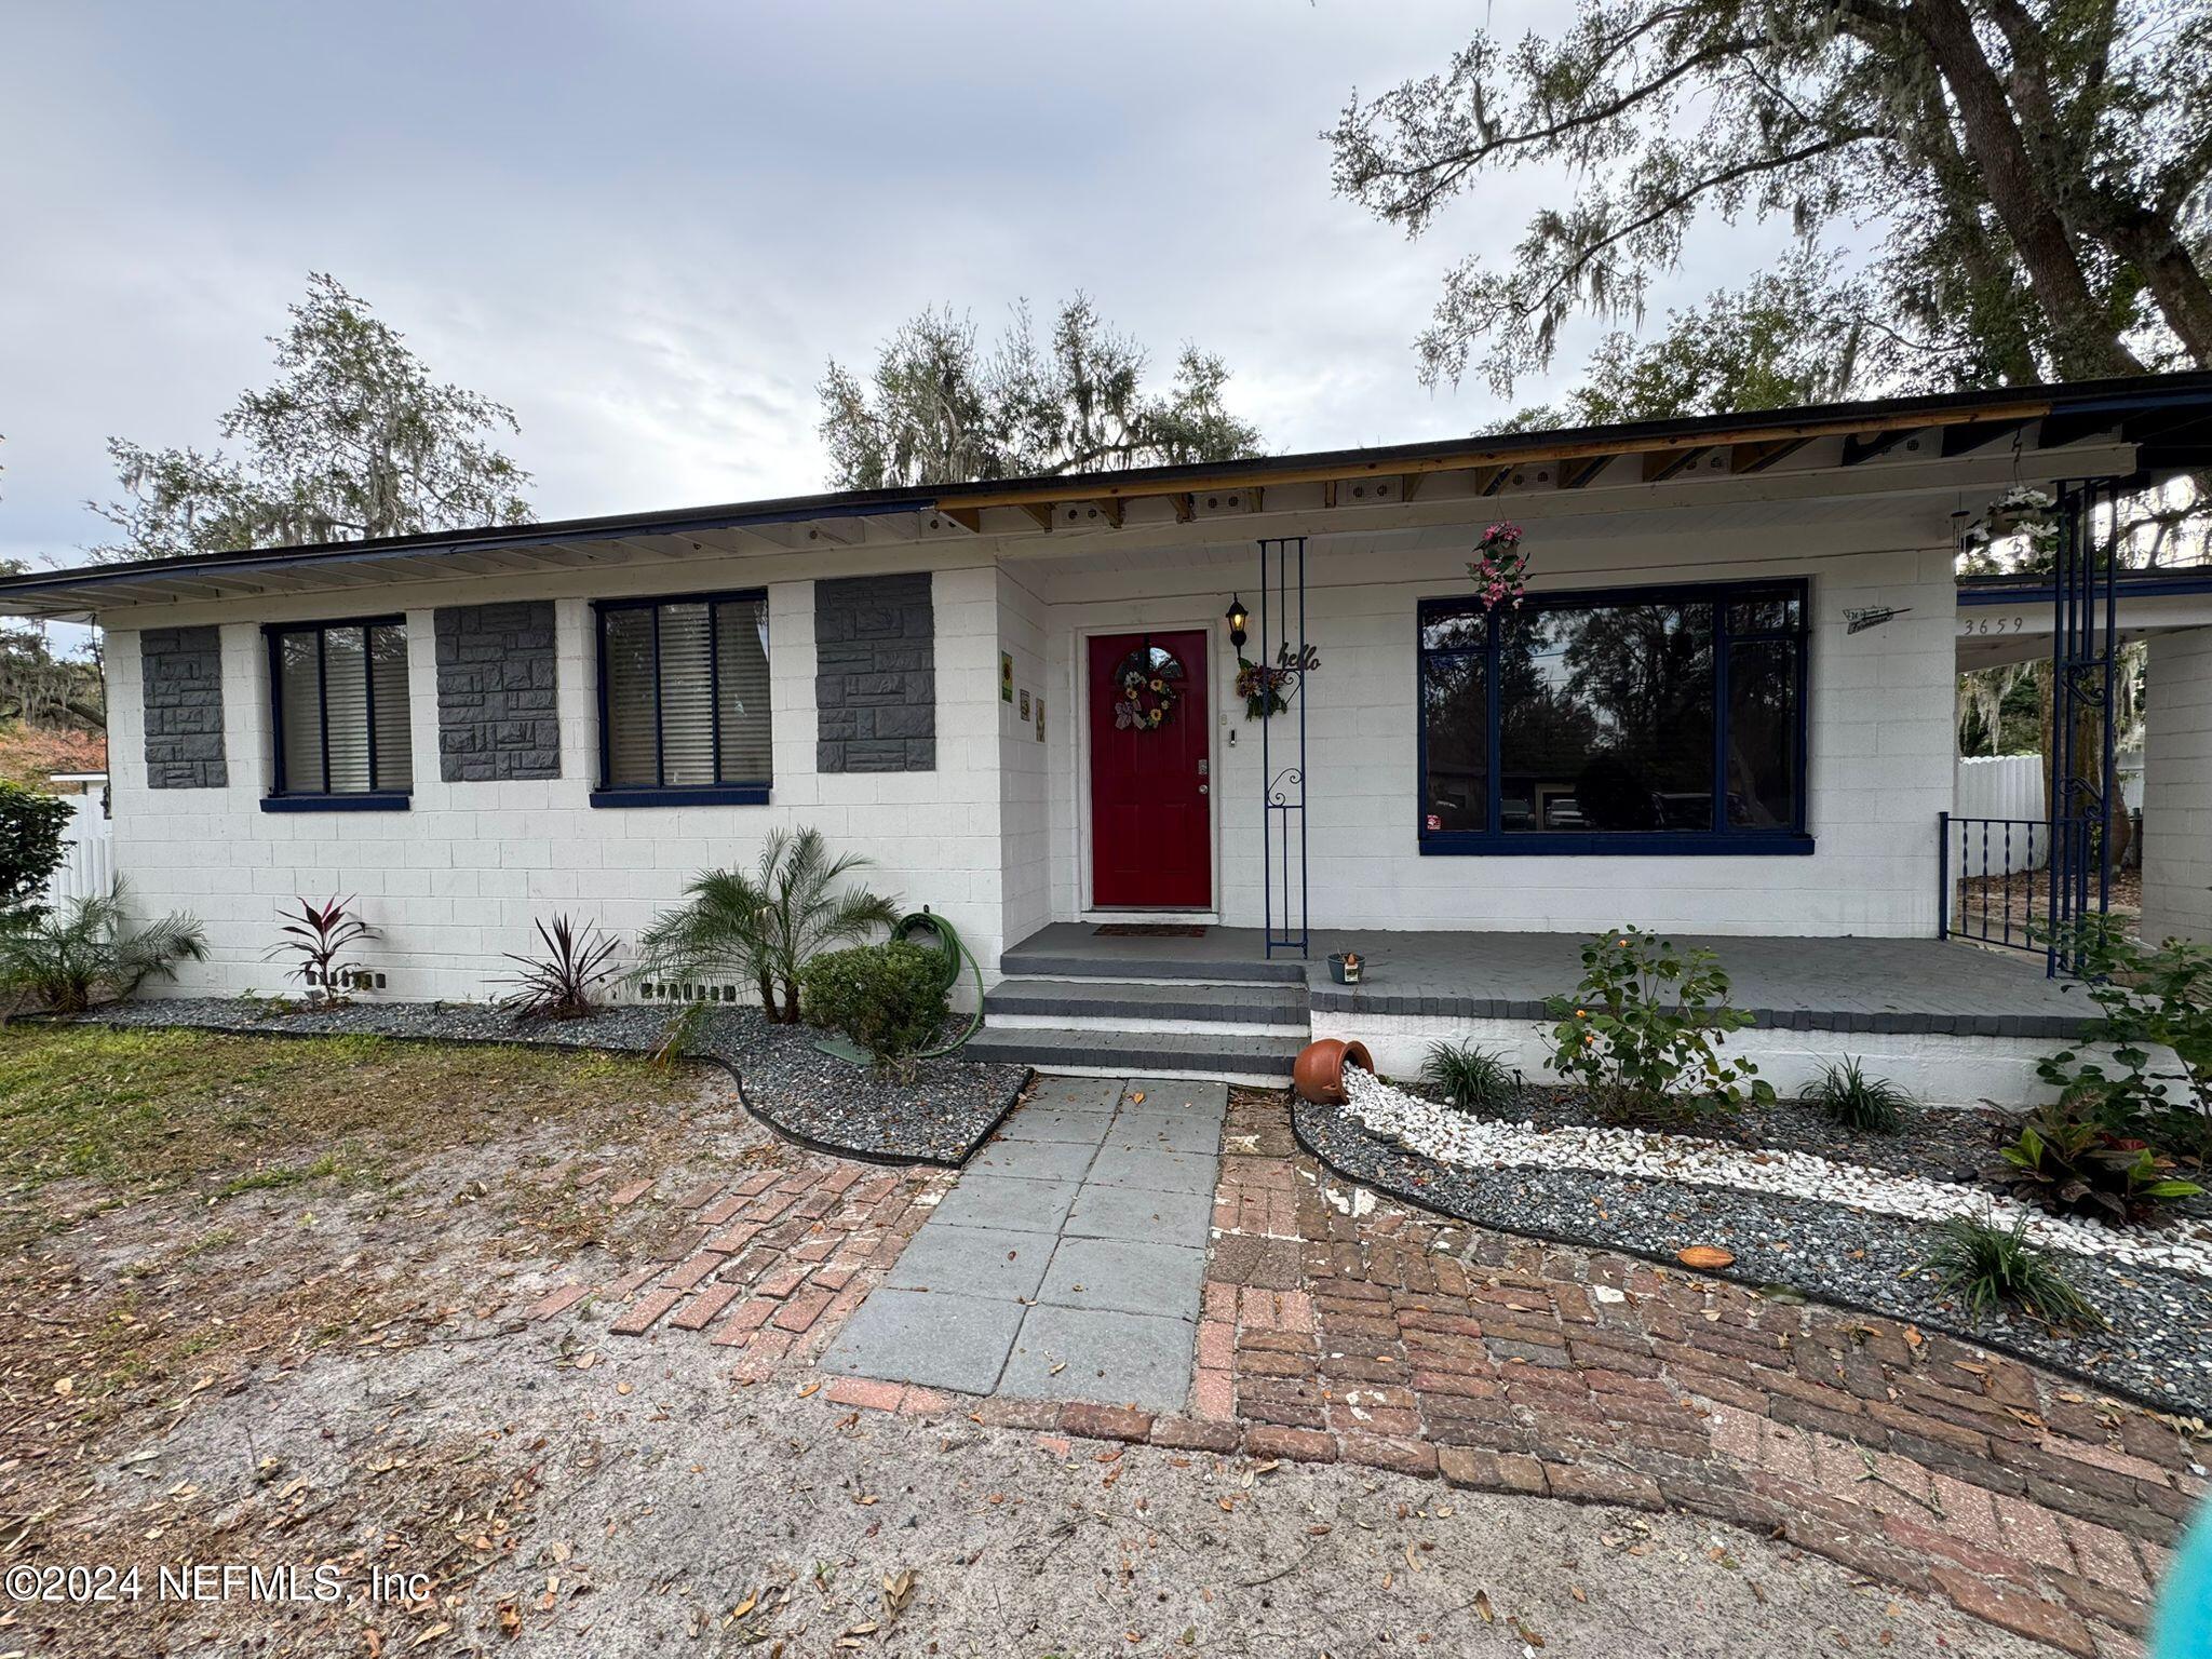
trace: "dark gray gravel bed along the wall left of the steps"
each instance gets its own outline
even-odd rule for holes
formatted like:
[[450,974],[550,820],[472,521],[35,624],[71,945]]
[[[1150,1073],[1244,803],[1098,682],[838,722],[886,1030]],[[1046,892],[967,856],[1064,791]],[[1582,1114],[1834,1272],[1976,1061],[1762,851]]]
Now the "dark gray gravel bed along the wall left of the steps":
[[[285,1011],[261,998],[146,998],[77,1015],[122,1029],[190,1026],[272,1037],[411,1037],[502,1042],[524,1048],[653,1053],[668,1011],[637,1004],[584,1020],[518,1022],[482,1002],[349,1002]],[[998,1128],[1029,1082],[1026,1066],[925,1060],[914,1084],[874,1077],[825,1055],[812,1026],[779,1026],[759,1009],[717,1009],[684,1053],[714,1060],[737,1077],[739,1099],[770,1128],[827,1152],[889,1164],[960,1166]]]

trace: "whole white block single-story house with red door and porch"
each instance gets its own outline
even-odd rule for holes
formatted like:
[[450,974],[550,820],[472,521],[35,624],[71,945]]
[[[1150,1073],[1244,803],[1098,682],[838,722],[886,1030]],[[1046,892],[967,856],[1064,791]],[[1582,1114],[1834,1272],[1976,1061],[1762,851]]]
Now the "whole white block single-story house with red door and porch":
[[[358,894],[385,995],[482,998],[533,918],[635,933],[818,825],[960,927],[980,1042],[1040,1064],[1526,1048],[1579,936],[1641,922],[1741,940],[1783,1079],[1858,1031],[1971,1099],[2073,1004],[1936,938],[1960,529],[2017,484],[2095,524],[2205,465],[2208,416],[2203,374],[2028,387],[93,566],[0,611],[106,630],[117,867],[212,940],[175,993],[279,989],[276,907]],[[1467,571],[1495,520],[1520,608]],[[1252,719],[1239,657],[1283,648]],[[2174,706],[2168,781],[2212,787]]]

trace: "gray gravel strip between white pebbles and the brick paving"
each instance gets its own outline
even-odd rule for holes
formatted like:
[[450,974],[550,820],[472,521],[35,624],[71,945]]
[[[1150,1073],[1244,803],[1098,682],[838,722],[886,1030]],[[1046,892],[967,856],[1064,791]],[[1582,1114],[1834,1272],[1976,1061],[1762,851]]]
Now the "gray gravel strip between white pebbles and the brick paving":
[[2161,1411],[2212,1418],[2212,1285],[2154,1267],[2066,1259],[2110,1329],[2055,1334],[2037,1321],[1971,1321],[1920,1270],[1938,1228],[1818,1199],[1728,1192],[1590,1170],[1458,1170],[1374,1135],[1340,1106],[1292,1102],[1298,1141],[1336,1172],[1500,1232],[1628,1250],[1672,1263],[1692,1243],[1736,1261],[1721,1276],[1785,1285],[2017,1354]]

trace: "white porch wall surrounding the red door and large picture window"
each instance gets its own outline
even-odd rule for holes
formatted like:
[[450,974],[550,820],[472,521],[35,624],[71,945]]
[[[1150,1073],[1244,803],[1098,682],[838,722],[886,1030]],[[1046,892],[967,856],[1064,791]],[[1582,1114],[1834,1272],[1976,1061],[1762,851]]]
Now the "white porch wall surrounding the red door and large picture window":
[[[1708,933],[1896,936],[1936,931],[1936,816],[1953,787],[1949,546],[1882,546],[1849,520],[1770,533],[1531,529],[1533,588],[1812,580],[1807,790],[1812,856],[1420,856],[1416,834],[1416,606],[1464,595],[1464,529],[1389,546],[1332,538],[1307,566],[1307,639],[1321,653],[1307,703],[1312,925],[1599,931],[1617,922]],[[1389,580],[1376,580],[1387,568]],[[1053,684],[1068,743],[1053,743],[1053,918],[1088,911],[1082,664],[1088,633],[1210,628],[1214,692],[1217,914],[1263,920],[1259,723],[1234,699],[1223,611],[1256,606],[1252,544],[1212,564],[1051,573]],[[1847,633],[1845,611],[1905,615]],[[1248,653],[1259,650],[1254,639]],[[1294,750],[1294,719],[1276,737]],[[1294,752],[1290,757],[1294,761]],[[1281,770],[1285,757],[1276,754]]]

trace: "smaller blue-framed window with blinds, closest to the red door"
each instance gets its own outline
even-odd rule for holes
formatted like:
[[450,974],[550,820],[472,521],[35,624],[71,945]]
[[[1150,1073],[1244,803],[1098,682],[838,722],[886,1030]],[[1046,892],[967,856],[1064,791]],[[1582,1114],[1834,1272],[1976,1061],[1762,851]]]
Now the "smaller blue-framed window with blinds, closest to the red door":
[[770,787],[768,595],[602,599],[593,805],[754,803]]

